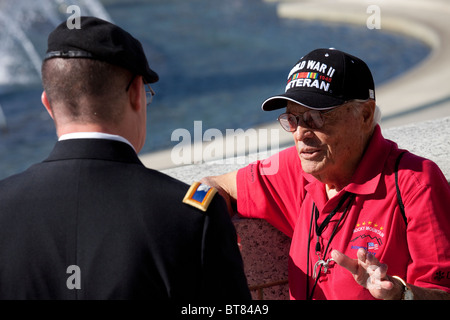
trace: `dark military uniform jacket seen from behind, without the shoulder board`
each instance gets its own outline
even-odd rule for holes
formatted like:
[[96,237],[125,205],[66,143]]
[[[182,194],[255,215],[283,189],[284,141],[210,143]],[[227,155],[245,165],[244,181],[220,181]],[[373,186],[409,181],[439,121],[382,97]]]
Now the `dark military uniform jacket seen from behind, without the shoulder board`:
[[224,200],[188,189],[126,143],[59,141],[0,182],[0,298],[250,298]]

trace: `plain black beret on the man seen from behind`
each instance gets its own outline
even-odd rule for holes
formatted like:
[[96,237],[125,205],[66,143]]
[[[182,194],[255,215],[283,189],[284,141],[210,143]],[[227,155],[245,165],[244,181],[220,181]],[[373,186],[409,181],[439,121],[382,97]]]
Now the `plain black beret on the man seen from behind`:
[[80,29],[61,23],[48,37],[44,61],[86,58],[108,62],[141,75],[145,83],[159,80],[150,69],[141,43],[122,28],[96,17],[80,17]]

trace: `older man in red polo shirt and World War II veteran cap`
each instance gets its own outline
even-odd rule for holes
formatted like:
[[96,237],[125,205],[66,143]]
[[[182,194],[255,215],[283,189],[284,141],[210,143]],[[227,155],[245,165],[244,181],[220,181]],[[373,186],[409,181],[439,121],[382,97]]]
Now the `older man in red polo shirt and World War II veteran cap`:
[[203,181],[292,238],[291,298],[448,298],[450,187],[436,164],[383,138],[367,65],[314,50],[262,105],[279,108],[295,147]]

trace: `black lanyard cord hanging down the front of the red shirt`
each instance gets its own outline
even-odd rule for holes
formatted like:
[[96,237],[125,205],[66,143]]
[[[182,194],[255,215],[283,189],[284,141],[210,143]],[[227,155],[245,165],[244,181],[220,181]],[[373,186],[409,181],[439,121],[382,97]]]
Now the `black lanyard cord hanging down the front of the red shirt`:
[[337,228],[339,227],[339,225],[341,224],[342,219],[344,218],[344,216],[347,214],[348,210],[350,209],[350,206],[353,202],[353,200],[355,199],[355,194],[347,192],[345,193],[341,200],[339,201],[338,205],[336,206],[336,208],[334,208],[334,210],[332,212],[330,212],[330,214],[325,218],[325,220],[322,222],[322,224],[320,225],[320,227],[318,226],[317,220],[319,217],[319,210],[316,207],[316,204],[313,202],[313,207],[311,210],[311,221],[309,224],[309,234],[308,234],[308,250],[307,250],[307,257],[306,257],[306,299],[307,300],[312,300],[312,297],[314,295],[314,291],[316,289],[316,285],[317,282],[320,278],[320,273],[322,272],[322,266],[320,266],[319,268],[319,273],[316,275],[316,280],[314,281],[314,286],[311,290],[311,294],[309,294],[309,248],[310,248],[310,244],[311,244],[311,237],[312,237],[312,222],[314,220],[314,216],[315,216],[315,223],[316,223],[316,235],[317,235],[317,242],[316,242],[316,252],[320,251],[320,243],[319,243],[319,236],[322,234],[323,230],[325,229],[325,227],[328,225],[328,223],[330,223],[331,218],[339,211],[339,209],[341,208],[341,206],[344,204],[345,200],[347,200],[347,198],[350,196],[350,200],[347,203],[347,206],[345,207],[344,212],[342,213],[342,215],[339,217],[339,221],[337,222],[337,224],[334,226],[333,232],[331,233],[330,236],[330,240],[328,241],[328,244],[325,248],[323,257],[325,258],[325,256],[327,255],[328,252],[328,248],[330,246],[331,241],[333,240],[334,236],[336,235],[336,231]]

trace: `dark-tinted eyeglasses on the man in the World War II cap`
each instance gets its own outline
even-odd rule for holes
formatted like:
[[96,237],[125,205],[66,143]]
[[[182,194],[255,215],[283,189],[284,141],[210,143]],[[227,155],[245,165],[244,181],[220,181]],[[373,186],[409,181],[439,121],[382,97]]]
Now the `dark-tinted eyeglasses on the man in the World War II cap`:
[[282,113],[278,117],[278,122],[287,132],[295,132],[298,126],[309,129],[320,129],[325,124],[324,115],[336,109],[337,107],[327,111],[308,110],[299,115]]

